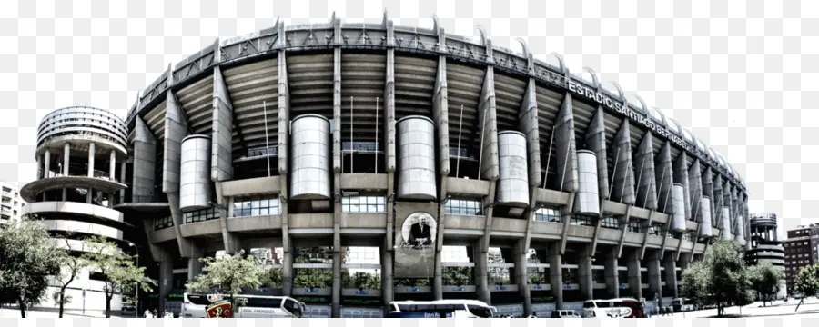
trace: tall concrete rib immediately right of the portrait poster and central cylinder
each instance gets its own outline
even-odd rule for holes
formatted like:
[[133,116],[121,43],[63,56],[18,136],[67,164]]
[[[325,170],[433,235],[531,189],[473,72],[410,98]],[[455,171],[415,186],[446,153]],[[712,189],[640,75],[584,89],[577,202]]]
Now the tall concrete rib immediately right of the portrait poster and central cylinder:
[[[436,26],[438,26],[436,24]],[[392,28],[392,25],[389,25]],[[440,45],[446,43],[446,33],[438,26],[438,42]],[[392,50],[388,50],[391,52]],[[389,72],[388,72],[389,74]],[[394,83],[394,81],[393,81]],[[449,93],[447,88],[447,57],[438,57],[438,72],[435,74],[435,93],[432,98],[432,120],[435,130],[438,132],[438,163],[440,194],[438,206],[438,240],[435,244],[435,273],[432,278],[432,292],[436,300],[443,299],[443,267],[441,266],[441,251],[443,250],[444,237],[446,235],[446,211],[444,202],[447,201],[447,177],[450,175],[450,123],[448,117]],[[394,107],[394,106],[393,106]],[[393,110],[394,111],[394,110]],[[394,115],[394,113],[393,113]],[[389,213],[388,213],[389,214]],[[389,235],[392,235],[389,233]],[[391,243],[389,243],[391,244]]]

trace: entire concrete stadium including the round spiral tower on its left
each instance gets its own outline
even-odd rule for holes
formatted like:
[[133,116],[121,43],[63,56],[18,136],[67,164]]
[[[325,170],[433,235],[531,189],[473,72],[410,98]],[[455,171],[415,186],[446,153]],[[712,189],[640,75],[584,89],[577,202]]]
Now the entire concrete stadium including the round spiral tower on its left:
[[[386,15],[217,40],[169,65],[124,123],[94,111],[110,119],[50,136],[56,115],[85,109],[49,115],[47,173],[24,195],[55,232],[144,244],[160,286],[143,301],[171,309],[219,251],[280,249],[281,285],[265,292],[312,316],[452,298],[545,315],[668,303],[708,239],[750,245],[745,184],[723,156],[591,70],[523,49]],[[348,247],[378,247],[379,263],[346,263]],[[365,268],[380,286],[340,277]],[[299,282],[312,270],[332,278]]]

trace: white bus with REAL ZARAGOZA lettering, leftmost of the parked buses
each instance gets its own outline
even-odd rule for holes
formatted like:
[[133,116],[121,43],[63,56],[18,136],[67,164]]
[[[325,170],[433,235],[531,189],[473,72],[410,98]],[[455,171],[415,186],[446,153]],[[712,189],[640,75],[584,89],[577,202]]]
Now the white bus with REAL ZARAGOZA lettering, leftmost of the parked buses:
[[[245,305],[234,311],[234,318],[301,318],[305,312],[303,302],[288,296],[238,295],[246,299]],[[226,300],[230,299],[225,295]],[[205,309],[210,305],[207,295],[184,294],[183,318],[207,318]]]

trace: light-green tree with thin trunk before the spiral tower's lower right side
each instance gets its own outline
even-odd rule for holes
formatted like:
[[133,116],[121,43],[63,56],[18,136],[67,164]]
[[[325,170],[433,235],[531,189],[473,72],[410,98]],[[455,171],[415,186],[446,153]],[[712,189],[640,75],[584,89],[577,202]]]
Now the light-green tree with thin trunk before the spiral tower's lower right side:
[[127,255],[116,243],[104,237],[93,236],[86,241],[88,252],[84,259],[92,272],[99,272],[105,278],[103,292],[106,296],[106,317],[111,317],[111,299],[116,293],[136,291],[141,288],[151,292],[150,283],[146,282],[145,267],[136,267],[134,257]]

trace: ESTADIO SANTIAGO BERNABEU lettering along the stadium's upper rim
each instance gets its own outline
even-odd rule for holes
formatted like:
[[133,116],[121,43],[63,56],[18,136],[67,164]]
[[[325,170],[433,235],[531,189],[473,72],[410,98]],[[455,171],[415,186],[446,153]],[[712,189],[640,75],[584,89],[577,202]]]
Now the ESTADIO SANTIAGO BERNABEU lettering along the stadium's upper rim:
[[648,129],[652,130],[652,132],[659,134],[660,136],[668,139],[674,144],[681,146],[683,149],[691,150],[689,148],[689,144],[682,139],[682,137],[677,136],[676,134],[672,134],[665,126],[662,124],[657,124],[652,121],[647,115],[643,115],[633,111],[628,105],[623,105],[621,101],[612,99],[611,96],[606,94],[602,94],[601,92],[597,92],[597,90],[591,89],[583,84],[574,82],[574,81],[567,81],[569,91],[572,94],[577,94],[582,97],[585,97],[597,104],[601,104],[606,108],[613,110],[618,114],[622,114],[628,117],[632,122],[637,124],[642,124],[643,126],[647,127]]

